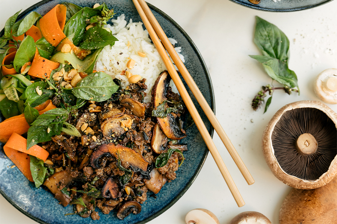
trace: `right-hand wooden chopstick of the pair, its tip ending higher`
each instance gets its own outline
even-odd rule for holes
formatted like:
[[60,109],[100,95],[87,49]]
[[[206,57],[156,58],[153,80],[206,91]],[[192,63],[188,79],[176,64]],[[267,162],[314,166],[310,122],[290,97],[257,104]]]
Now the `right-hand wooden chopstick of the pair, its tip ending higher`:
[[200,92],[198,86],[195,84],[193,78],[189,74],[188,70],[186,69],[184,63],[181,61],[180,57],[178,56],[177,52],[175,51],[174,47],[168,40],[165,32],[159,25],[157,19],[152,14],[149,6],[146,4],[144,0],[139,0],[140,5],[142,6],[145,15],[149,19],[153,29],[157,33],[159,39],[161,40],[162,44],[164,45],[165,49],[167,50],[168,54],[170,54],[171,58],[173,59],[175,65],[177,66],[180,74],[186,81],[188,87],[191,89],[193,95],[195,96],[196,100],[200,104],[201,108],[204,110],[207,118],[211,122],[212,126],[214,127],[215,131],[218,133],[220,139],[222,140],[223,144],[227,148],[229,154],[232,156],[235,164],[238,166],[240,172],[242,173],[243,177],[246,179],[248,185],[253,184],[255,181],[251,174],[249,173],[246,165],[243,163],[242,159],[240,158],[239,153],[236,151],[234,145],[232,144],[231,140],[229,140],[228,136],[226,135],[225,131],[221,127],[218,119],[215,117],[211,107],[208,105],[206,99],[204,98],[203,94]]

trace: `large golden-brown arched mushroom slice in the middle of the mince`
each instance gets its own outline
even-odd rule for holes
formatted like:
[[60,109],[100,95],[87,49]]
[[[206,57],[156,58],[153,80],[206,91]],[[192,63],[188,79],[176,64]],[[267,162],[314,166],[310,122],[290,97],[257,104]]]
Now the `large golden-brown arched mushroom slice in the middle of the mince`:
[[115,143],[102,144],[98,146],[98,148],[91,155],[91,166],[95,169],[99,168],[99,161],[97,160],[99,160],[103,155],[108,155],[108,153],[115,156],[116,159],[119,157],[123,167],[132,165],[133,167],[147,171],[147,166],[149,163],[143,159],[141,154],[126,146],[120,144],[115,145]]

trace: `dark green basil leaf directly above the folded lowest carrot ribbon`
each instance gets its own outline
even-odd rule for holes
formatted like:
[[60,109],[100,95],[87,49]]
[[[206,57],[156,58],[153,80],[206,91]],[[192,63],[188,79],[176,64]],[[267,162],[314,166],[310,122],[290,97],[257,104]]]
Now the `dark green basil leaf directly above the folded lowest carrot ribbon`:
[[[36,120],[35,120],[36,121]],[[50,126],[33,125],[27,133],[27,150],[37,143],[52,140],[55,135],[61,134],[62,124],[52,124]],[[49,132],[49,133],[48,133]]]

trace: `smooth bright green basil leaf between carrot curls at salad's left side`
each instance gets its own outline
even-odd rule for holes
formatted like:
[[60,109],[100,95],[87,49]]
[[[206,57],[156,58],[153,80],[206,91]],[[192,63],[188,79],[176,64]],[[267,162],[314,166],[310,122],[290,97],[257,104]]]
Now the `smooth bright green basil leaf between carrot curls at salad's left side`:
[[18,73],[21,73],[21,67],[29,62],[33,61],[35,55],[35,43],[31,36],[27,36],[20,44],[20,47],[15,54],[13,61],[14,68]]

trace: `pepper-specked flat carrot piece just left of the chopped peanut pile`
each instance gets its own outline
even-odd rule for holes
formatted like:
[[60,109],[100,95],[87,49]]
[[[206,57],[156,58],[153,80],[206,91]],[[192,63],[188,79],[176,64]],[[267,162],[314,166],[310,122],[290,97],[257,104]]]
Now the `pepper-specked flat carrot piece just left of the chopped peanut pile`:
[[27,74],[41,79],[43,79],[43,77],[49,78],[52,71],[57,69],[59,66],[60,63],[41,57],[36,48],[32,65]]

